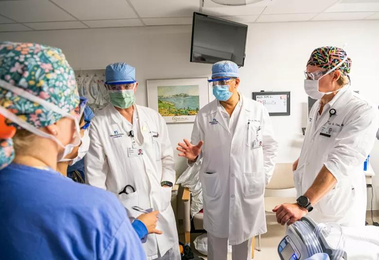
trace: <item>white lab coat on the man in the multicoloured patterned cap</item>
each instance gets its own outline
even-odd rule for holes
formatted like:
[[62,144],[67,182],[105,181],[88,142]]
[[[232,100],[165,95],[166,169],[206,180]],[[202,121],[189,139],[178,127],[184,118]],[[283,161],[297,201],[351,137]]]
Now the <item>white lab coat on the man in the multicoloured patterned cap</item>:
[[[294,171],[297,196],[309,189],[325,165],[337,184],[314,205],[309,215],[318,223],[332,221],[342,226],[364,226],[367,198],[363,162],[374,144],[378,111],[349,86],[325,105],[321,115],[317,115],[319,108],[316,102],[310,110]],[[331,109],[336,110],[335,115],[330,116]],[[320,135],[324,126],[331,129],[330,137]]]

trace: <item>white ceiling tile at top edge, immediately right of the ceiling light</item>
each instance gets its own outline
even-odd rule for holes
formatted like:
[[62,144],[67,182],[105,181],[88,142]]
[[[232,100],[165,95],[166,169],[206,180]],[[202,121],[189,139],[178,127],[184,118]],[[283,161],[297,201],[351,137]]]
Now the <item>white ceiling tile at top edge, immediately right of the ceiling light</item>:
[[264,10],[264,15],[270,14],[306,14],[320,13],[337,0],[273,0]]

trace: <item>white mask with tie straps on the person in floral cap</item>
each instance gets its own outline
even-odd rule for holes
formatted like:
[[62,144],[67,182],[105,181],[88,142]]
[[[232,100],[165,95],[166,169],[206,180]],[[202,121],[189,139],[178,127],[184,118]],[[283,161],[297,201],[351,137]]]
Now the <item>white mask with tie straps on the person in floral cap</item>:
[[9,91],[15,93],[17,96],[29,99],[29,100],[37,103],[37,104],[42,105],[43,107],[45,107],[47,109],[50,109],[51,111],[53,111],[53,112],[55,112],[57,114],[61,114],[64,117],[69,117],[70,119],[74,120],[76,132],[72,136],[72,143],[70,143],[70,144],[68,144],[68,145],[65,146],[55,136],[53,136],[51,134],[48,134],[48,133],[46,133],[46,132],[44,132],[42,130],[39,130],[38,128],[34,127],[33,125],[29,124],[28,122],[20,119],[16,114],[13,114],[9,110],[7,110],[6,108],[0,106],[0,114],[2,114],[3,116],[5,116],[6,118],[8,118],[9,120],[11,120],[12,122],[16,123],[17,125],[19,125],[23,129],[26,129],[26,130],[34,133],[35,135],[52,139],[59,146],[62,146],[64,148],[64,151],[58,154],[58,162],[60,160],[64,159],[68,154],[70,154],[75,146],[80,145],[79,122],[78,122],[78,119],[75,116],[73,116],[72,114],[67,113],[66,111],[64,111],[60,107],[56,106],[55,104],[49,103],[45,99],[42,99],[40,97],[36,97],[33,94],[31,94],[31,93],[23,90],[22,88],[8,83],[7,81],[0,80],[0,83],[1,83],[1,87],[2,88],[5,88],[6,90],[9,90]]

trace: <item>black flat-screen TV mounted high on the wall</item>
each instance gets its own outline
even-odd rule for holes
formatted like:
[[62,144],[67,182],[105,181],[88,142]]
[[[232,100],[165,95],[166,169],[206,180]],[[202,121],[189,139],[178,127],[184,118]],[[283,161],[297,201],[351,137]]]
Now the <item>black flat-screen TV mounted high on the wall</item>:
[[229,60],[243,66],[247,25],[193,13],[190,62]]

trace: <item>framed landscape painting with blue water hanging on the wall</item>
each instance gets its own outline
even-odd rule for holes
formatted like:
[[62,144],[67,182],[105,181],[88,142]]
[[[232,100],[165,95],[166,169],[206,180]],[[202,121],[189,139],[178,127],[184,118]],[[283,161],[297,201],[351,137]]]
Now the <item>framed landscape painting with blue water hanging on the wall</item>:
[[166,123],[191,123],[209,102],[208,78],[147,80],[148,107]]

